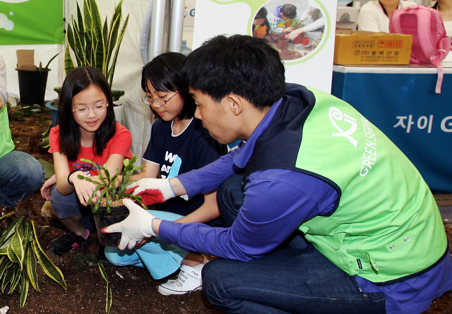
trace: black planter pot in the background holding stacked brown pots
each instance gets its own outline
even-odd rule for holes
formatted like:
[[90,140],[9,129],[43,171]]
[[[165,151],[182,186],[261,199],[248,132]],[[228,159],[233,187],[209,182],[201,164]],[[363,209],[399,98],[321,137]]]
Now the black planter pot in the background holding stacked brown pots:
[[44,106],[44,97],[46,94],[47,70],[24,70],[16,69],[19,77],[19,94],[22,105]]

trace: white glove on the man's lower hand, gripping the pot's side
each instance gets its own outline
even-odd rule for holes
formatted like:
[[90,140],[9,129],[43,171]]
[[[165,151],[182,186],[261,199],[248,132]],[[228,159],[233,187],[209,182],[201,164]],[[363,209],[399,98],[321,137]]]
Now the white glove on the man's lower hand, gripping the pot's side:
[[121,232],[121,241],[118,248],[133,248],[137,242],[148,237],[157,236],[152,230],[152,220],[156,217],[152,216],[148,211],[135,204],[131,199],[125,198],[122,204],[129,210],[129,216],[113,225],[109,225],[102,229],[103,233]]

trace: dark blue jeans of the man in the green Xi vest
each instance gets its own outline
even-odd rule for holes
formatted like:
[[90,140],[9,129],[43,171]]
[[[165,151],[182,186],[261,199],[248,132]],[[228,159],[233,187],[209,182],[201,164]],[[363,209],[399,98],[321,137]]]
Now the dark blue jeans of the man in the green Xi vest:
[[[241,180],[233,175],[217,191],[226,223],[243,203]],[[202,282],[207,299],[226,313],[386,313],[383,294],[362,293],[353,277],[296,234],[263,258],[208,262]]]

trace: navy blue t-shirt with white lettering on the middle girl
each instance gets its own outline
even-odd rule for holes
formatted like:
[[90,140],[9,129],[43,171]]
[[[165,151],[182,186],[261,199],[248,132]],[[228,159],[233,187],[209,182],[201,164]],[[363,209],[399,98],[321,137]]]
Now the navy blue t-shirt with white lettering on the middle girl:
[[[227,153],[226,145],[215,141],[201,120],[193,118],[182,133],[172,135],[172,121],[158,119],[151,129],[151,139],[147,145],[143,159],[160,165],[161,178],[173,178],[181,173],[199,169],[221,155]],[[203,195],[197,195],[185,201],[181,197],[174,197],[165,203],[155,204],[157,210],[169,211],[187,216],[204,202]],[[221,226],[221,220],[215,219],[207,225]]]

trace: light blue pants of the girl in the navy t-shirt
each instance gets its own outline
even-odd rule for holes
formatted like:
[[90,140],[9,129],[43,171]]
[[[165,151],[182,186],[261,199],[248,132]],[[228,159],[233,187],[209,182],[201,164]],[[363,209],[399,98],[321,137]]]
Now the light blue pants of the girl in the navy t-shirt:
[[[183,217],[167,211],[148,211],[162,220],[174,221]],[[122,251],[117,247],[105,247],[105,256],[113,265],[146,267],[154,279],[167,277],[177,271],[187,254],[188,251],[177,245],[164,244],[159,237],[141,247]]]

